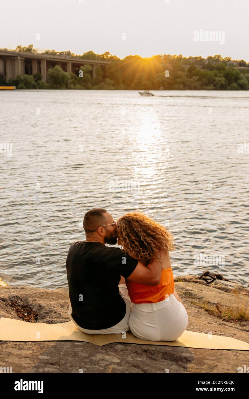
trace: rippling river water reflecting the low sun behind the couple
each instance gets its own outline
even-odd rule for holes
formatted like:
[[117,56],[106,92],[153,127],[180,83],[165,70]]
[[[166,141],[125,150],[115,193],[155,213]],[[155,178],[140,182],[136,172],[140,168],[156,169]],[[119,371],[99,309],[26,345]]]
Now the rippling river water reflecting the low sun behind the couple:
[[115,220],[139,210],[166,225],[175,277],[209,270],[248,284],[249,154],[237,148],[248,139],[249,93],[154,94],[165,97],[0,92],[0,142],[12,143],[12,156],[0,154],[3,280],[67,285],[84,213],[104,207]]

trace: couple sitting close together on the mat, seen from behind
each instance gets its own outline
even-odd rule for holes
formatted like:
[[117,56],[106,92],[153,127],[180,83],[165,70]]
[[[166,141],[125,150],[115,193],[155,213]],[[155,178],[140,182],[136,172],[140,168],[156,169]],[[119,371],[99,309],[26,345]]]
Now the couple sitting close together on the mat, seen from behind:
[[[85,214],[85,241],[67,254],[68,314],[87,334],[131,331],[150,341],[174,341],[188,314],[174,289],[172,235],[141,213],[117,222],[105,209]],[[121,245],[106,247],[105,244]]]

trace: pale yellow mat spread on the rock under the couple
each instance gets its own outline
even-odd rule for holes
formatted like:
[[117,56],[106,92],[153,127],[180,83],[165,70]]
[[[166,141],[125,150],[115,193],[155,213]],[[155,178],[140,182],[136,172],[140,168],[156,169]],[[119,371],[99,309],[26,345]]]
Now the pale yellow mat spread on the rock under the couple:
[[145,341],[131,332],[124,334],[89,335],[77,329],[70,320],[65,323],[28,323],[22,320],[0,318],[0,341],[83,341],[103,346],[113,342],[126,344],[185,346],[186,348],[249,350],[249,343],[230,337],[184,331],[176,341]]

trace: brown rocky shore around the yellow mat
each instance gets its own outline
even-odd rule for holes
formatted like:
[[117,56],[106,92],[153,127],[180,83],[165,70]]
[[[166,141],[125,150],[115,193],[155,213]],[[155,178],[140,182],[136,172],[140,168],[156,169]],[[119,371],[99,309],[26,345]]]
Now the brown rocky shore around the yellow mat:
[[[189,317],[187,330],[249,342],[249,288],[232,281],[211,284],[198,276],[175,278]],[[0,279],[0,317],[44,322],[69,321],[68,288],[44,290],[8,286]],[[237,373],[248,351],[85,342],[0,342],[0,367],[13,373]]]

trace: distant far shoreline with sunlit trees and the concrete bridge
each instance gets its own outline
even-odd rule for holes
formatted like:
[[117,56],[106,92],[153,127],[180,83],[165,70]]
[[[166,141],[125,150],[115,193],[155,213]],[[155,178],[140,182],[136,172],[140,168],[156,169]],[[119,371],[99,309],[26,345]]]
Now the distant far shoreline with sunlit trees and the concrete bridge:
[[[11,51],[5,52],[14,56]],[[16,89],[249,90],[249,63],[221,55],[207,59],[170,54],[146,59],[135,55],[121,60],[108,53],[100,61],[94,53],[85,59],[35,54],[25,48],[15,54],[22,54],[22,68],[6,70],[6,75],[2,72],[0,85]],[[32,57],[36,68],[28,66]]]

